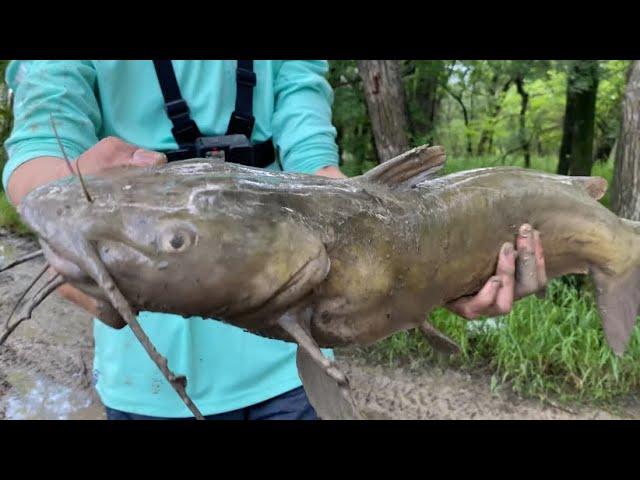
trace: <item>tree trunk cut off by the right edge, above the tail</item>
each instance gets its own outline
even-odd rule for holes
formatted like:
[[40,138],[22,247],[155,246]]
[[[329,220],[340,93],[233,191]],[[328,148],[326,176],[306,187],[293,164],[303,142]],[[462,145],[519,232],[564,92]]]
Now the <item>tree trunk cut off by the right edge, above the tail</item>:
[[635,60],[629,70],[615,159],[613,211],[621,217],[640,220],[640,60]]

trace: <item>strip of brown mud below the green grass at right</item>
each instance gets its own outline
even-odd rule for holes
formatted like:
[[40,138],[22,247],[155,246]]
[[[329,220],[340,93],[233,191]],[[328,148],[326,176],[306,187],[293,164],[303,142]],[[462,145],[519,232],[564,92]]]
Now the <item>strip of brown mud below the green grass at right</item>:
[[638,410],[613,414],[595,408],[566,408],[492,392],[490,377],[437,367],[421,371],[367,364],[351,354],[340,357],[355,401],[374,420],[615,420],[638,418]]

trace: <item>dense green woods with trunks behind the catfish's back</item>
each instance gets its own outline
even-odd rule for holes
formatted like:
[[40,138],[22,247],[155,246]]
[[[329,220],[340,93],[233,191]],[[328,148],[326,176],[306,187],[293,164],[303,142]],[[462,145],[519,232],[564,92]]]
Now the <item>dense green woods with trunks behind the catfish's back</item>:
[[[630,61],[332,61],[334,124],[345,169],[385,148],[437,143],[451,157],[589,175],[612,162]],[[393,84],[395,82],[395,84]],[[386,126],[381,132],[383,124]]]

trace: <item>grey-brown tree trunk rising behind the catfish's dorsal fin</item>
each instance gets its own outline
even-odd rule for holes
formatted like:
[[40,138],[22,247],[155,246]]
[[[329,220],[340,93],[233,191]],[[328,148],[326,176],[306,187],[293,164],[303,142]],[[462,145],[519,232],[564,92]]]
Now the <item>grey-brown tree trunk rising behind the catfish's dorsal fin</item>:
[[364,86],[378,161],[382,163],[410,149],[400,63],[397,60],[359,60],[358,70]]

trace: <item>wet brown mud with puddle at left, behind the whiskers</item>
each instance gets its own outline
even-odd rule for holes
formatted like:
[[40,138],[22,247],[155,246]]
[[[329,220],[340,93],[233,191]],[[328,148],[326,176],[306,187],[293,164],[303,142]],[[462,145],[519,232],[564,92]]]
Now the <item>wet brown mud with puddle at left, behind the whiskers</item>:
[[[36,249],[33,240],[0,230],[0,265]],[[18,295],[43,265],[37,259],[0,273],[2,328]],[[60,297],[49,297],[0,347],[0,418],[103,418],[92,388],[92,363],[90,316]]]

